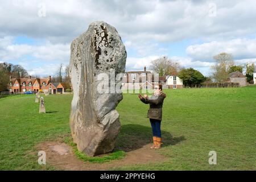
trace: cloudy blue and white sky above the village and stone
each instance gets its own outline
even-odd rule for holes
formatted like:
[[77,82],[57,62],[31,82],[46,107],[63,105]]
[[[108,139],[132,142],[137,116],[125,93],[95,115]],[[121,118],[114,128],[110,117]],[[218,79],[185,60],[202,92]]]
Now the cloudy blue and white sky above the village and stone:
[[114,26],[126,46],[126,71],[159,56],[210,75],[212,57],[231,53],[256,63],[256,1],[1,1],[0,63],[31,75],[55,75],[69,64],[70,44],[89,24]]

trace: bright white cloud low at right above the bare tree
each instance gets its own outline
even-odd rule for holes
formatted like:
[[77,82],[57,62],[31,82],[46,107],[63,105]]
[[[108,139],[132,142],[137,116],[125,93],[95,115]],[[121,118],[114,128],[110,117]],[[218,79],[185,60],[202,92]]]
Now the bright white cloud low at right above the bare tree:
[[195,60],[212,61],[213,56],[221,52],[232,54],[234,59],[251,59],[256,57],[256,39],[233,39],[196,44],[189,46],[186,52]]

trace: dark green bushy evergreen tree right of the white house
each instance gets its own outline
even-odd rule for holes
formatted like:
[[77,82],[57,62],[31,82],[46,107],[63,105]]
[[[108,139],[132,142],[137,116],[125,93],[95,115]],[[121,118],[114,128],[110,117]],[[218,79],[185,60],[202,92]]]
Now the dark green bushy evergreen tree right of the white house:
[[202,73],[193,68],[181,69],[178,76],[183,80],[183,84],[185,86],[191,87],[194,85],[199,85],[201,82],[206,80],[206,77],[204,77]]

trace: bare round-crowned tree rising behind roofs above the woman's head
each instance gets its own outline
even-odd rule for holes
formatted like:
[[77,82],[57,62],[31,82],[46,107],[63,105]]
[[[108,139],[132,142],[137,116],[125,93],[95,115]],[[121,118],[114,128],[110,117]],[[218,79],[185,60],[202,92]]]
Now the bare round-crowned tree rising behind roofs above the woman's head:
[[172,72],[180,70],[180,64],[174,60],[168,59],[167,56],[159,57],[151,61],[152,71],[159,73],[159,76],[171,75]]

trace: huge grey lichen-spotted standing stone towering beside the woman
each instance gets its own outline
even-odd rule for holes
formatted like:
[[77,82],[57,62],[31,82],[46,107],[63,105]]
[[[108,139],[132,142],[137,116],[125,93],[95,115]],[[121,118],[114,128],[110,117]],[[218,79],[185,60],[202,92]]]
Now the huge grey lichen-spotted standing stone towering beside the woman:
[[[71,44],[69,73],[74,93],[71,133],[79,151],[89,156],[113,151],[120,130],[115,107],[123,98],[122,92],[98,92],[102,84],[98,76],[106,73],[109,80],[113,72],[114,76],[118,73],[123,76],[125,64],[125,46],[117,30],[108,23],[93,22]],[[108,84],[120,87],[122,76]]]

